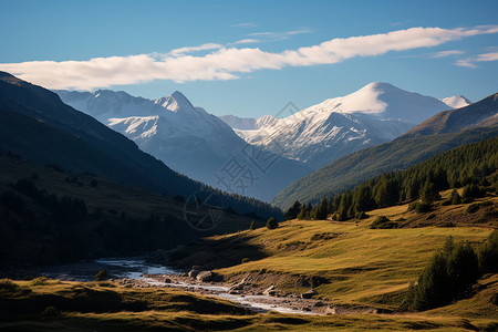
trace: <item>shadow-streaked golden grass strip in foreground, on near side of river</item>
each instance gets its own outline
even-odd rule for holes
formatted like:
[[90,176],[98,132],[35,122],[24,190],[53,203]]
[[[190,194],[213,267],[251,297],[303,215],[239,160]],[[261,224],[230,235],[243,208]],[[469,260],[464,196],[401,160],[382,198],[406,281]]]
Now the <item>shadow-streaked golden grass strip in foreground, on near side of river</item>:
[[[485,282],[495,284],[497,280],[498,277],[495,276]],[[6,311],[2,311],[1,331],[468,331],[491,330],[498,324],[496,317],[467,319],[448,314],[448,310],[442,309],[416,314],[250,314],[228,301],[180,290],[129,289],[108,282],[54,280],[38,286],[32,286],[31,281],[14,283],[21,288],[30,288],[31,292],[0,295],[4,310],[15,305],[22,308],[14,315],[6,317]],[[89,309],[89,297],[100,292],[125,304],[141,302],[147,305],[139,310],[137,307],[134,310],[118,310],[111,305],[102,311],[97,308],[98,303],[93,302],[93,309]],[[66,305],[58,307],[61,299],[65,300]],[[55,313],[42,313],[48,305],[56,307]],[[454,305],[464,307],[469,303]]]

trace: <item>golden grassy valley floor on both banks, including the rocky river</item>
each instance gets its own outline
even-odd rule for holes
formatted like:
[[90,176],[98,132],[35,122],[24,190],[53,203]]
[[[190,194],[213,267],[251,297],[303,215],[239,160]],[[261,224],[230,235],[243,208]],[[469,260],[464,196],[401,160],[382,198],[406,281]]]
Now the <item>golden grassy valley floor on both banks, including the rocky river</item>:
[[[448,195],[442,193],[443,198]],[[496,197],[478,203],[498,205]],[[187,270],[194,263],[203,263],[200,270],[215,269],[218,277],[211,281],[188,277],[185,269],[111,281],[14,281],[19,288],[8,288],[2,280],[0,301],[14,312],[24,309],[22,321],[4,315],[0,329],[65,326],[80,331],[87,326],[135,329],[139,324],[141,329],[179,331],[221,326],[237,331],[369,331],[373,326],[386,331],[492,331],[498,322],[496,274],[484,276],[465,299],[449,305],[408,313],[400,305],[409,282],[448,236],[478,246],[497,220],[481,224],[485,211],[468,215],[468,204],[464,204],[436,210],[434,219],[439,221],[422,226],[427,215],[406,209],[407,205],[378,209],[371,211],[369,219],[353,221],[289,220],[273,230],[263,227],[206,238],[173,256],[176,260],[170,263],[188,266]],[[397,229],[372,229],[378,215],[405,217],[409,222]],[[456,215],[469,218],[445,226],[445,219],[454,220]],[[251,256],[252,248],[259,248],[262,256]],[[242,256],[248,259],[235,262]],[[310,289],[315,291],[311,299],[301,299]],[[95,301],[104,307],[93,304]]]

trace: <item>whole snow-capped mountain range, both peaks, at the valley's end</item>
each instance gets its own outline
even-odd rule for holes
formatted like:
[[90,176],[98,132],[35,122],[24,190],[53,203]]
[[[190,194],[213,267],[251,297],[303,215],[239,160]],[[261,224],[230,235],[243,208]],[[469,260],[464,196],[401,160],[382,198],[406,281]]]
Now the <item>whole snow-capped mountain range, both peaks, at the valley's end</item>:
[[[371,83],[287,117],[240,118],[209,114],[178,91],[157,100],[108,90],[55,92],[173,169],[267,201],[341,156],[392,141],[450,105],[468,103],[463,96],[439,101]],[[245,176],[234,179],[226,172],[230,167]]]

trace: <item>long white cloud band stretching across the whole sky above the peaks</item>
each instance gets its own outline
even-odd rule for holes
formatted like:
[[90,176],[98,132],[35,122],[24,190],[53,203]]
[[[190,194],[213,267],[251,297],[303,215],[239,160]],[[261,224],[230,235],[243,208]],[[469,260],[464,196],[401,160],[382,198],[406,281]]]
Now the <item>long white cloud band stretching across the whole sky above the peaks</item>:
[[[264,52],[259,48],[237,49],[204,44],[177,49],[167,54],[95,58],[89,61],[3,63],[0,64],[0,70],[49,89],[93,90],[153,80],[175,82],[235,80],[238,79],[238,73],[332,64],[351,58],[436,46],[469,35],[487,33],[498,33],[498,25],[470,29],[412,28],[372,35],[336,38],[318,45],[280,53]],[[185,54],[199,50],[212,51],[198,56]],[[481,61],[486,59],[491,61],[494,55],[490,54],[487,53]]]

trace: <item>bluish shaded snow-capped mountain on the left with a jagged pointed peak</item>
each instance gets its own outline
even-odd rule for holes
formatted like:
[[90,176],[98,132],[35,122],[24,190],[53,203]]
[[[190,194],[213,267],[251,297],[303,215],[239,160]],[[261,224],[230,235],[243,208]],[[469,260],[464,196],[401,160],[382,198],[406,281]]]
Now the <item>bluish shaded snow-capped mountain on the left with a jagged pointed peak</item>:
[[[248,145],[178,91],[155,101],[108,90],[55,92],[64,103],[124,134],[173,169],[226,191],[269,201],[310,173],[299,162]],[[257,159],[263,157],[269,167],[258,165]]]

